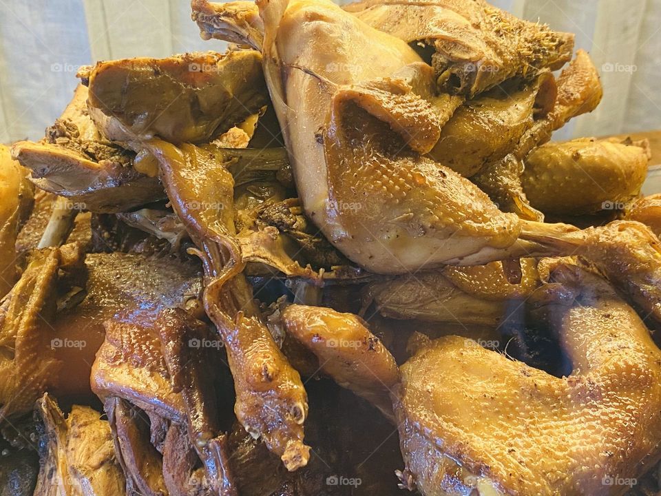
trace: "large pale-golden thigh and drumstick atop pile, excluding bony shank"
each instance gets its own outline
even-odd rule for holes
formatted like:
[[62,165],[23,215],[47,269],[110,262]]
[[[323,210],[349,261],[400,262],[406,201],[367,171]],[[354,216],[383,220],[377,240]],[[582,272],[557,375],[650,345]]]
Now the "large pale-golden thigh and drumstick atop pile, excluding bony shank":
[[401,273],[476,253],[487,262],[515,242],[516,216],[421,156],[442,120],[419,90],[428,66],[406,43],[330,1],[260,3],[260,14],[264,72],[300,197],[340,251]]

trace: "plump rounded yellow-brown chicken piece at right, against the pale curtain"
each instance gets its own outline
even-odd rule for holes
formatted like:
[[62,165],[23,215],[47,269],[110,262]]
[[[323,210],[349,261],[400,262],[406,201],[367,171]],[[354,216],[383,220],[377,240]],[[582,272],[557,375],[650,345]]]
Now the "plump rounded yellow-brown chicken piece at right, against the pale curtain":
[[525,158],[523,190],[536,209],[580,216],[622,209],[647,176],[649,143],[578,138],[547,143]]

